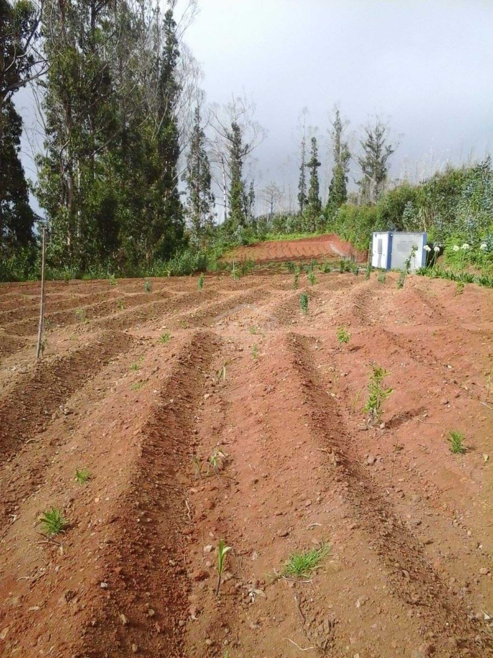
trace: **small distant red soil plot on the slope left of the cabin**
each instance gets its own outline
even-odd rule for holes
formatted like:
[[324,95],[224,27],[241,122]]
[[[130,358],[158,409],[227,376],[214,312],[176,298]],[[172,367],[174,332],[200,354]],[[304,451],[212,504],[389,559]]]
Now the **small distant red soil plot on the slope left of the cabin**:
[[354,258],[357,261],[366,261],[366,253],[355,251],[350,243],[341,240],[335,234],[302,238],[302,240],[277,240],[259,242],[247,247],[236,247],[227,255],[225,260],[232,258],[239,261],[255,261],[256,263],[270,263],[271,261],[306,261],[310,259]]

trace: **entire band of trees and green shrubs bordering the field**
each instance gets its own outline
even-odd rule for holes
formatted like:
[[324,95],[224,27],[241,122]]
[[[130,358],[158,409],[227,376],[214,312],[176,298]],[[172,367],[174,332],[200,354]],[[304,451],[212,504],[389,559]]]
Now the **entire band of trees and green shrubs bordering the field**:
[[[169,259],[190,270],[215,241],[268,232],[335,230],[360,248],[377,228],[421,227],[444,243],[491,234],[489,161],[392,189],[388,125],[375,117],[350,147],[338,108],[325,191],[321,139],[303,111],[296,208],[290,193],[286,212],[285,190],[270,182],[266,215],[256,213],[250,156],[264,132],[246,98],[204,103],[183,41],[194,10],[189,0],[183,20],[176,0],[164,9],[159,0],[0,0],[0,279],[37,274],[35,222],[48,230],[50,271],[67,276],[162,272]],[[43,133],[31,189],[13,100],[27,84]],[[351,163],[358,192],[348,191]]]

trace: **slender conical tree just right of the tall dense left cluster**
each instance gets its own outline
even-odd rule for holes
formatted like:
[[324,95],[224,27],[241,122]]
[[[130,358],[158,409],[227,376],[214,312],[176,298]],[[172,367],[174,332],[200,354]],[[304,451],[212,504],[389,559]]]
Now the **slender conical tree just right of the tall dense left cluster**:
[[205,134],[200,126],[200,109],[195,108],[195,120],[187,155],[187,215],[193,236],[200,239],[206,228],[214,224],[214,194],[211,190],[210,164],[205,148]]

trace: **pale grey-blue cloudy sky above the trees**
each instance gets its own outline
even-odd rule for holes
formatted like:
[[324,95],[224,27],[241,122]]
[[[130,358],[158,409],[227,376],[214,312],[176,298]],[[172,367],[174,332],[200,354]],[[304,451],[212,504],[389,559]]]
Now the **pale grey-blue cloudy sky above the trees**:
[[[202,64],[207,101],[246,93],[267,131],[254,153],[259,188],[282,184],[287,175],[279,168],[291,157],[296,195],[303,107],[323,138],[338,103],[355,147],[369,116],[388,118],[400,138],[396,177],[404,169],[415,178],[417,170],[464,162],[471,152],[481,159],[492,147],[492,0],[199,0],[199,6],[185,41]],[[21,108],[25,94],[16,97]],[[323,178],[330,166],[323,144],[320,159]],[[354,161],[351,176],[358,178]]]

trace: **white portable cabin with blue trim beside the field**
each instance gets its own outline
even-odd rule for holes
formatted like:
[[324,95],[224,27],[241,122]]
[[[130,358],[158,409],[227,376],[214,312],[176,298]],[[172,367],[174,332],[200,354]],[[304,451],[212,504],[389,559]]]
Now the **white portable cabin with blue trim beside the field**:
[[426,233],[413,231],[379,231],[373,233],[371,265],[383,270],[401,270],[410,257],[413,246],[417,247],[411,259],[411,271],[426,263]]

